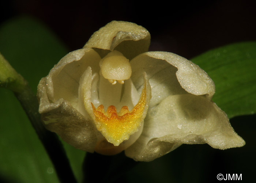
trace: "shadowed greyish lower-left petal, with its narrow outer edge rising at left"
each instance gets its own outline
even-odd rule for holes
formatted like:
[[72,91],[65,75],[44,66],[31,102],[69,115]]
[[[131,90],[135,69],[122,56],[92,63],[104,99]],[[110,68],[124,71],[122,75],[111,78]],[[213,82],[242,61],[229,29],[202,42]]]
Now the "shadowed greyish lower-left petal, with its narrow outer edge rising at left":
[[55,132],[70,145],[83,151],[94,152],[100,135],[90,119],[80,114],[62,98],[51,102],[46,93],[46,78],[38,85],[39,113],[46,129]]

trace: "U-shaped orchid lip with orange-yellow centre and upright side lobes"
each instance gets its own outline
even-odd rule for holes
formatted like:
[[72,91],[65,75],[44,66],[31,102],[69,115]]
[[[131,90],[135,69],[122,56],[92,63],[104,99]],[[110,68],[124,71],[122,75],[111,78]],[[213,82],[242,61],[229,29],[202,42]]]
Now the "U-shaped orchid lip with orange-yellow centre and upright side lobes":
[[[110,105],[106,112],[104,111],[104,106],[102,104],[99,105],[96,109],[93,102],[91,102],[92,98],[90,94],[90,83],[92,83],[92,80],[90,78],[91,69],[89,67],[83,74],[83,77],[80,81],[80,93],[82,96],[84,108],[87,110],[88,114],[93,119],[98,131],[102,133],[106,140],[109,143],[114,144],[114,146],[118,146],[124,140],[128,140],[132,134],[139,131],[139,128],[140,126],[142,126],[143,120],[146,117],[148,102],[150,101],[151,98],[151,93],[149,90],[150,86],[147,81],[146,73],[144,73],[144,87],[141,93],[141,97],[130,112],[128,110],[128,106],[123,106],[120,112],[117,113],[116,106],[114,105],[119,104],[116,104],[114,101],[111,101],[114,105]],[[103,80],[101,82],[108,82],[103,77],[101,77],[101,79]],[[108,90],[112,89],[113,87],[113,85],[110,85],[109,88],[105,89]],[[100,87],[99,90],[104,90],[104,87]],[[112,97],[116,98],[113,95]],[[116,100],[116,102],[117,101],[119,100]]]

